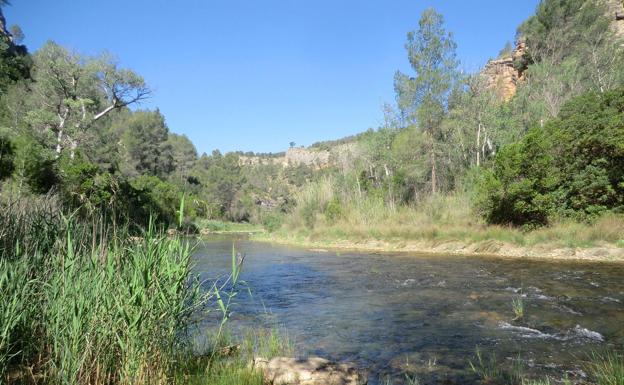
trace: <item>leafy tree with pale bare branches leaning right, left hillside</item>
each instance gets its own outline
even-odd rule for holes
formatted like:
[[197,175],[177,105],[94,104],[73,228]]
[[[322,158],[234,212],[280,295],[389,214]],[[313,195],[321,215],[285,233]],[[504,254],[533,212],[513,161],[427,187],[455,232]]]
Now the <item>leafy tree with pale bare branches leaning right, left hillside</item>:
[[134,72],[119,69],[106,55],[83,58],[53,42],[34,55],[31,125],[56,138],[57,157],[76,148],[93,124],[113,110],[149,97],[144,80]]

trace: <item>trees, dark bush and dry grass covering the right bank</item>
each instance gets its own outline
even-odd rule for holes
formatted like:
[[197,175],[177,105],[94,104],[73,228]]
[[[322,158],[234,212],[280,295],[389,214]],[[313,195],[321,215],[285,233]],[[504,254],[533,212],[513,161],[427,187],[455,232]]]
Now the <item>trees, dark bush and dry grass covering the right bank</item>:
[[351,138],[349,162],[295,191],[270,238],[620,247],[624,54],[605,15],[591,0],[542,1],[519,28],[521,80],[506,100],[485,76],[458,73],[442,17],[425,12],[406,44],[416,75],[395,76],[396,107]]

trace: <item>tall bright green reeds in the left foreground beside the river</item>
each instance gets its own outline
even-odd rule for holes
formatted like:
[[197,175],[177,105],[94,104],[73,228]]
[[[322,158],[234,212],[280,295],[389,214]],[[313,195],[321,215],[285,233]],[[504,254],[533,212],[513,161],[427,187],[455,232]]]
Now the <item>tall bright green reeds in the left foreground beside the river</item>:
[[0,249],[0,383],[261,383],[240,362],[197,356],[189,338],[198,311],[221,312],[223,327],[234,257],[232,275],[201,290],[190,244],[153,224],[129,237],[50,205],[23,207],[0,210],[0,227],[14,226]]

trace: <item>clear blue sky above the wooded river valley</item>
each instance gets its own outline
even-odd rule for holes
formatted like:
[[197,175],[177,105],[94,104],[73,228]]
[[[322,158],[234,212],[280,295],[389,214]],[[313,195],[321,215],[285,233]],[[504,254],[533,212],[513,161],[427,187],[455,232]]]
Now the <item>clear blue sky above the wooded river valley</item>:
[[409,71],[405,36],[434,7],[474,72],[538,0],[13,0],[31,51],[54,40],[141,74],[198,151],[276,152],[377,127]]

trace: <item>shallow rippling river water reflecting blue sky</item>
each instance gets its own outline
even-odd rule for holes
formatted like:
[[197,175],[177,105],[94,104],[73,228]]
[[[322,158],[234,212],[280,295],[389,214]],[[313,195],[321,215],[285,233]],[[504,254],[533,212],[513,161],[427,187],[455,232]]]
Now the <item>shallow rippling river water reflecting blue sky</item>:
[[[228,271],[232,238],[197,248],[203,278]],[[624,265],[312,252],[239,239],[246,256],[233,324],[285,329],[298,354],[382,376],[472,382],[475,347],[502,365],[581,379],[587,352],[624,347]],[[522,297],[525,320],[514,322]]]

